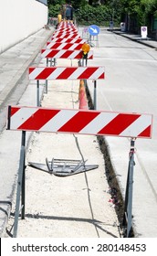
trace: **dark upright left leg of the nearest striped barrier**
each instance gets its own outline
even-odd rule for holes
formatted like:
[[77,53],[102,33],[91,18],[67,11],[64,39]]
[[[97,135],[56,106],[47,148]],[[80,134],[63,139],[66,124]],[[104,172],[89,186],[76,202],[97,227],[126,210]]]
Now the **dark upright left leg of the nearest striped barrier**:
[[[21,145],[26,147],[26,131],[22,131],[22,142]],[[23,161],[23,176],[22,176],[22,191],[21,191],[21,219],[25,219],[25,187],[26,187],[26,161],[25,161],[25,152],[24,152],[24,161]]]

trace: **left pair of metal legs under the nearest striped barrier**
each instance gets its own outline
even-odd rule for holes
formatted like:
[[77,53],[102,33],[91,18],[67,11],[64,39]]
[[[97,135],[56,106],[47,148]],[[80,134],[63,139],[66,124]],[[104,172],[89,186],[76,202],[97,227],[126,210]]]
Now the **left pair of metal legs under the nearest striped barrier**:
[[20,163],[18,169],[18,180],[17,180],[17,192],[16,192],[16,213],[15,213],[15,223],[13,230],[13,238],[17,235],[18,217],[20,211],[20,197],[22,202],[22,217],[25,219],[25,144],[26,144],[26,132],[22,131],[22,142],[20,151]]

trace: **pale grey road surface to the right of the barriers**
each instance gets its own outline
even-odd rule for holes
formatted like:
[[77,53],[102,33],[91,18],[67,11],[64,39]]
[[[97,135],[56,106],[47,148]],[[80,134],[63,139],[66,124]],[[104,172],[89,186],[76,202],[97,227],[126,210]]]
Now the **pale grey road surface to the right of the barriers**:
[[[90,60],[89,65],[105,66],[106,70],[106,80],[99,80],[97,85],[97,109],[153,114],[152,139],[135,142],[132,214],[138,237],[156,237],[157,51],[102,29],[99,48],[93,50],[94,60]],[[88,84],[93,98],[93,84]],[[130,141],[119,137],[105,139],[124,196]]]

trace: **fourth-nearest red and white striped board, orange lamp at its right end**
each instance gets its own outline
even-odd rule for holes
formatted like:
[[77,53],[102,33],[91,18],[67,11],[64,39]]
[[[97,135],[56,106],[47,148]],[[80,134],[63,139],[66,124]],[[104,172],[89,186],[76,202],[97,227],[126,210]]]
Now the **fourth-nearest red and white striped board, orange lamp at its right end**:
[[56,43],[56,42],[47,42],[47,48],[55,49],[70,49],[70,50],[79,50],[83,46],[83,43]]

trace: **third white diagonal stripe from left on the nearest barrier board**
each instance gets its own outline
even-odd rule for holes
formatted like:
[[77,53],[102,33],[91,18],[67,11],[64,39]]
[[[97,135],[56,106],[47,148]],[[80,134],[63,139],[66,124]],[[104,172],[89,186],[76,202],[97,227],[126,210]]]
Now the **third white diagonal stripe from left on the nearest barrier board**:
[[112,121],[119,113],[116,112],[100,112],[99,115],[86,125],[79,133],[97,134],[104,128],[110,121]]

